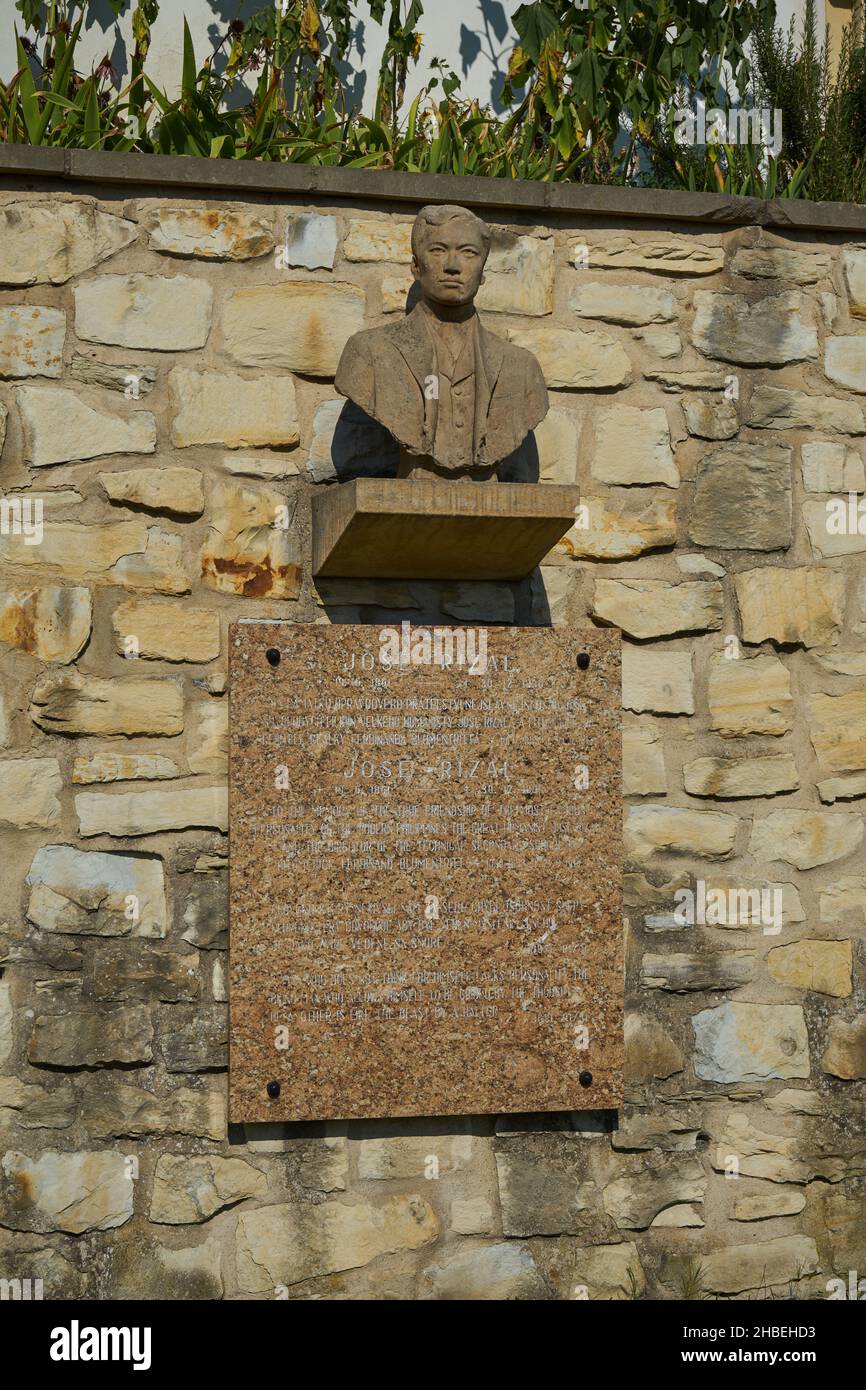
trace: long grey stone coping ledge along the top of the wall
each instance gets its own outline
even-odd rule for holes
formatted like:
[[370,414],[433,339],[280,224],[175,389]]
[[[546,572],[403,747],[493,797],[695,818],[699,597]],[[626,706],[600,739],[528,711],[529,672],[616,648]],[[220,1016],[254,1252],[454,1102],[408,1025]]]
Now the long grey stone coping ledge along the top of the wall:
[[[309,195],[388,203],[461,203],[537,214],[539,220],[575,214],[637,221],[756,225],[780,229],[866,234],[866,206],[801,199],[730,197],[669,189],[592,183],[542,183],[528,179],[403,174],[392,170],[321,168],[267,160],[209,160],[177,154],[115,154],[107,150],[56,150],[0,145],[0,188],[18,178],[58,179],[70,185],[113,185],[232,195]],[[542,217],[544,214],[544,217]]]

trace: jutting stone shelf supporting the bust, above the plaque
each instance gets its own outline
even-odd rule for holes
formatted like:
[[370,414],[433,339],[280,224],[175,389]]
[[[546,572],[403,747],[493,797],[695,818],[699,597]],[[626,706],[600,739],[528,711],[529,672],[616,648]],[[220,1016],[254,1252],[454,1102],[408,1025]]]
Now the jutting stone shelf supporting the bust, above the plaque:
[[356,478],[313,499],[313,574],[523,580],[574,524],[580,488]]

